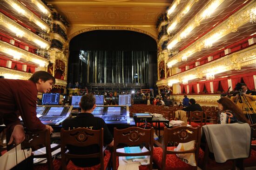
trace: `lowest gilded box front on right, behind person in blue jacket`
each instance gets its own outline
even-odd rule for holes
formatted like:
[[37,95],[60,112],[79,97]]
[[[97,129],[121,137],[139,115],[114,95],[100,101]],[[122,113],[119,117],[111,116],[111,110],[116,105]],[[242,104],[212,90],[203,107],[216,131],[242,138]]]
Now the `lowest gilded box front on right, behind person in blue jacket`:
[[[181,102],[183,95],[172,95],[175,102]],[[212,105],[217,106],[217,100],[220,99],[220,95],[188,95],[188,98],[194,98],[197,104],[200,105]]]

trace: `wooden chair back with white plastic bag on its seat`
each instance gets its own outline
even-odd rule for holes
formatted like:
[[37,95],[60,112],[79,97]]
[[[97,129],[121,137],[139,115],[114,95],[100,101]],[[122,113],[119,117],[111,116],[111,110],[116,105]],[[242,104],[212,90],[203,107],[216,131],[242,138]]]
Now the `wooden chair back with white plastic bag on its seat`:
[[[165,170],[165,162],[166,162],[167,154],[195,153],[195,161],[197,164],[199,147],[200,147],[200,138],[201,138],[201,127],[192,128],[187,126],[181,126],[181,127],[171,128],[171,129],[164,127],[163,145],[162,145],[162,148],[163,148],[162,170]],[[185,150],[185,151],[167,150],[167,147],[170,143],[187,143],[193,140],[195,140],[195,148],[192,150]]]

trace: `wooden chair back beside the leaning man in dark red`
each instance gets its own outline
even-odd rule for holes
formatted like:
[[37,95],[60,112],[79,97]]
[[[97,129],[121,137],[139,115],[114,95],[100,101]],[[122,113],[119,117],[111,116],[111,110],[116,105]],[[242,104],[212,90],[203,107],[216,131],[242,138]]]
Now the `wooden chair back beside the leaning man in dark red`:
[[42,147],[46,148],[46,154],[34,155],[34,158],[47,158],[47,164],[49,170],[54,170],[52,151],[57,150],[60,146],[56,146],[51,149],[50,130],[45,131],[26,131],[26,138],[21,143],[22,148],[32,148],[32,150],[38,150]]

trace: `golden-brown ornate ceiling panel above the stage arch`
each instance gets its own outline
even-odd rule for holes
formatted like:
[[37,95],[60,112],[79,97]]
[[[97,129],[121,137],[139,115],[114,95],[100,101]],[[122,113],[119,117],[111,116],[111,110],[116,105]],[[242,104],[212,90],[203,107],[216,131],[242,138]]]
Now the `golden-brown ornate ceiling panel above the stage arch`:
[[[93,29],[133,28],[151,37],[158,17],[172,0],[46,0],[70,23],[67,36]],[[98,26],[99,28],[95,28]],[[90,29],[91,28],[91,29]],[[82,30],[82,31],[81,31]],[[75,35],[72,35],[75,34]]]

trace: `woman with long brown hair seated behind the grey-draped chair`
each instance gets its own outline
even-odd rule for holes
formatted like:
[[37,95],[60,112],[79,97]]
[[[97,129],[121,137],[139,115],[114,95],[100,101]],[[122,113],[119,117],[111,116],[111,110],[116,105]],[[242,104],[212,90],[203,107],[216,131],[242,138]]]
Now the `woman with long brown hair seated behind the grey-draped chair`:
[[249,123],[249,120],[245,118],[243,110],[240,109],[231,99],[222,97],[217,100],[219,110],[219,124],[233,124],[238,121],[243,123]]

